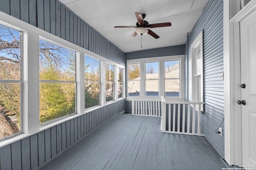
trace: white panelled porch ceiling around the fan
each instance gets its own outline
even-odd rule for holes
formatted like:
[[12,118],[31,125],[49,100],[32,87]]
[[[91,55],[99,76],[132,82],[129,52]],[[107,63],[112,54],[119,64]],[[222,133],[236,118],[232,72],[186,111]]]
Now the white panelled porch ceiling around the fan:
[[[186,42],[208,0],[60,0],[82,20],[125,53],[159,47],[181,45]],[[146,34],[133,39],[136,28],[135,12],[146,14],[144,20],[152,23],[171,22],[171,27],[151,28],[158,39]]]

